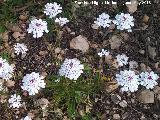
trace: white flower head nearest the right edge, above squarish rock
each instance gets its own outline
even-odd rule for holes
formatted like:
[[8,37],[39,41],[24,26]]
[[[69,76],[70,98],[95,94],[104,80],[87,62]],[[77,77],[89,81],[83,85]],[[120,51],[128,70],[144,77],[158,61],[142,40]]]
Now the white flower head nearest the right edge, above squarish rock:
[[140,84],[145,86],[147,89],[152,89],[155,85],[158,83],[156,80],[159,78],[157,74],[155,74],[153,71],[151,72],[142,72],[140,74]]

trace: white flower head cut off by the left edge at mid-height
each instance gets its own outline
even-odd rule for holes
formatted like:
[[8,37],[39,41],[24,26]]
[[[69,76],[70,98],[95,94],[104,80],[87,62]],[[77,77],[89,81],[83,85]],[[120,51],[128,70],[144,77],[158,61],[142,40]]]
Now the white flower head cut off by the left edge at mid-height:
[[14,68],[5,59],[0,58],[0,78],[9,80],[13,76]]

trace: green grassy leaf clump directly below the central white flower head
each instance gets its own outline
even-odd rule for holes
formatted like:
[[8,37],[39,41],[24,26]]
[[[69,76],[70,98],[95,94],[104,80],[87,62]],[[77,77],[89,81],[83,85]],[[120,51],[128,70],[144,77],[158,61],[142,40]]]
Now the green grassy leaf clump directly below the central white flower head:
[[85,77],[80,77],[78,80],[69,80],[65,77],[50,75],[48,76],[47,92],[53,98],[55,106],[67,108],[70,118],[75,118],[78,115],[77,106],[79,104],[87,104],[88,96],[96,94],[100,90],[100,76],[93,76],[89,66],[85,66]]

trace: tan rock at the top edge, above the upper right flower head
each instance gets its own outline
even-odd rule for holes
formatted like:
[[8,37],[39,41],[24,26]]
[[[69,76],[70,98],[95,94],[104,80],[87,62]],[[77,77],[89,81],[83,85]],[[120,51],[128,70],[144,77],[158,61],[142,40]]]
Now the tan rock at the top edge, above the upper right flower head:
[[130,0],[131,4],[127,4],[128,11],[130,13],[134,13],[137,10],[138,7],[138,1],[137,0]]

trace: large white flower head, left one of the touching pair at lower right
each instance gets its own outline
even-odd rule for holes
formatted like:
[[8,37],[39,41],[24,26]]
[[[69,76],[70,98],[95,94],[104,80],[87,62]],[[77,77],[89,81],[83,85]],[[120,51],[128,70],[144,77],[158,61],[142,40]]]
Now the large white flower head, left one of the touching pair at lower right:
[[122,91],[134,92],[138,90],[139,76],[134,71],[120,71],[120,74],[116,74],[116,80],[122,86]]

